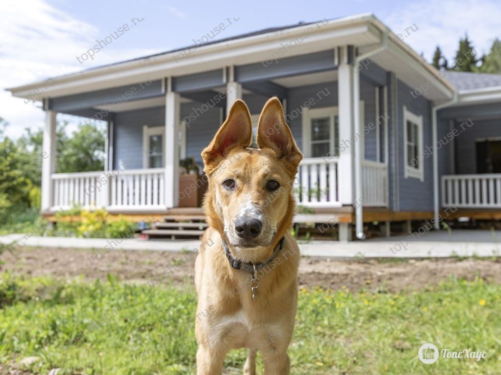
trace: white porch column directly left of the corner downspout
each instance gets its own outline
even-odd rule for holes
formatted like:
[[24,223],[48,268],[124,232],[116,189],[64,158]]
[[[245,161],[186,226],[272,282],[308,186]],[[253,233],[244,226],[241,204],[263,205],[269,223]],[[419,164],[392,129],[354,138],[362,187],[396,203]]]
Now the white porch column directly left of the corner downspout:
[[[339,107],[339,200],[342,204],[354,203],[355,134],[353,127],[353,74],[348,63],[347,47],[340,48],[338,67]],[[360,134],[359,134],[360,136]]]

